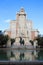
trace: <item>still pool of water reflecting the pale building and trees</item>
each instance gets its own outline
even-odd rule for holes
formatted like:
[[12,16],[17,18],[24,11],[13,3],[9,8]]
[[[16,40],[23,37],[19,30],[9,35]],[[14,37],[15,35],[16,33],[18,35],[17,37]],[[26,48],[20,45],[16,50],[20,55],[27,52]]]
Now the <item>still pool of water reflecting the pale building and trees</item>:
[[0,61],[43,60],[43,50],[0,50]]

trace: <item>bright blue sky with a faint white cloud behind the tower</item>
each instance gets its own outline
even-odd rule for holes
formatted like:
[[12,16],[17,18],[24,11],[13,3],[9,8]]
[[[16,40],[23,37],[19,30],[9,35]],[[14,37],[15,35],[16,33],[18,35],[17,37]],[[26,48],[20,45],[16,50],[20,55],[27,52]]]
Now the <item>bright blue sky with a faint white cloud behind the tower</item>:
[[43,0],[0,0],[0,30],[9,28],[9,21],[16,19],[16,12],[23,7],[33,28],[43,34]]

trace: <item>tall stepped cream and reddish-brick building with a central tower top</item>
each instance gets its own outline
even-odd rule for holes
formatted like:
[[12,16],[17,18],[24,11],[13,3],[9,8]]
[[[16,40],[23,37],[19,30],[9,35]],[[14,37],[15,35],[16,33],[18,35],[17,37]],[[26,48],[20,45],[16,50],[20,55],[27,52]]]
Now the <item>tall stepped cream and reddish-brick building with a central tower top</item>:
[[10,30],[6,30],[6,33],[10,38],[15,38],[16,42],[19,42],[21,37],[27,43],[38,36],[38,30],[33,29],[32,24],[31,20],[27,20],[25,10],[21,8],[16,14],[16,20],[10,21]]

